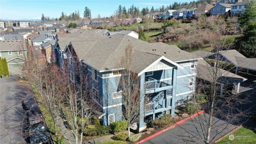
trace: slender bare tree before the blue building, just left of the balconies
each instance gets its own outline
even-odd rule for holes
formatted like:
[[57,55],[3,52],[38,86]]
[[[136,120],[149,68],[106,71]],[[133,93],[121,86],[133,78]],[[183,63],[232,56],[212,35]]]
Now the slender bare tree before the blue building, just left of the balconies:
[[140,81],[138,74],[131,70],[133,52],[133,46],[127,45],[119,62],[119,67],[122,68],[119,79],[119,88],[122,91],[122,112],[123,118],[128,123],[129,138],[131,124],[138,121],[140,114]]

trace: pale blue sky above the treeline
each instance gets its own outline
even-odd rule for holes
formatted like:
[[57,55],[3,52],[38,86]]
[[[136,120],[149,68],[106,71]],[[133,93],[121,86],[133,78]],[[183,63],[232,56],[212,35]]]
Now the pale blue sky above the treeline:
[[122,1],[122,0],[0,0],[0,19],[41,19],[42,13],[50,18],[59,18],[61,12],[69,15],[71,12],[79,10],[82,17],[84,7],[88,6],[91,9],[92,17],[109,17],[117,10],[119,4],[130,7],[132,4],[139,6],[141,10],[143,7],[151,6],[158,8],[162,5],[170,5],[173,2],[190,2],[190,0],[158,0],[158,1]]

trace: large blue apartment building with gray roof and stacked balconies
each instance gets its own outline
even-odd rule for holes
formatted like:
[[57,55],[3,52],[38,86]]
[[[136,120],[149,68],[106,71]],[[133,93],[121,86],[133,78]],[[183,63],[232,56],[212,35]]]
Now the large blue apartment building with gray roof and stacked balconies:
[[134,49],[131,70],[140,79],[141,110],[136,128],[141,131],[150,119],[165,114],[174,116],[175,106],[190,99],[195,90],[197,58],[175,45],[147,43],[121,34],[108,37],[81,30],[57,37],[54,61],[60,69],[68,68],[70,81],[74,83],[74,61],[81,62],[79,66],[86,68],[90,82],[94,83],[92,89],[96,94],[92,99],[99,106],[101,123],[109,125],[122,119],[122,90],[118,89],[118,79],[122,75],[116,64],[127,44]]

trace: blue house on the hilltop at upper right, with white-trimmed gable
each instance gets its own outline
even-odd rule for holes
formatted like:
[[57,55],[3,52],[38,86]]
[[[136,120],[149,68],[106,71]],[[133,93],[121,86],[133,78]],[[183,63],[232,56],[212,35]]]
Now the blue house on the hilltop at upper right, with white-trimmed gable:
[[212,7],[211,15],[224,15],[231,10],[231,4],[217,4]]

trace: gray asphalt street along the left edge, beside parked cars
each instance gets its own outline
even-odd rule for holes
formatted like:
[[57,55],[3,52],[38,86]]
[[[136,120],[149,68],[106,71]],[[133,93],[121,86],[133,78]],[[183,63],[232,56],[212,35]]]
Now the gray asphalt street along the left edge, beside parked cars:
[[14,77],[0,78],[0,143],[26,143],[23,124],[27,122],[22,98],[29,90]]

